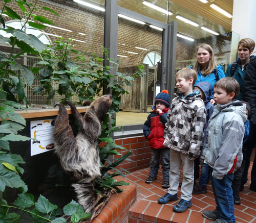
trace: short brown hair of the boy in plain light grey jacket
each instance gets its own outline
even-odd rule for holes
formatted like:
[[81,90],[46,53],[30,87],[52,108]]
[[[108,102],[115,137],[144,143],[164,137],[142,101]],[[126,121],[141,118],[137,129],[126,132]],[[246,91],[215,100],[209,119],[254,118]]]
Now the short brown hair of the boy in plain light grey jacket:
[[231,77],[221,78],[217,81],[214,87],[218,87],[226,91],[228,94],[234,92],[233,100],[239,95],[240,93],[240,85],[236,79]]

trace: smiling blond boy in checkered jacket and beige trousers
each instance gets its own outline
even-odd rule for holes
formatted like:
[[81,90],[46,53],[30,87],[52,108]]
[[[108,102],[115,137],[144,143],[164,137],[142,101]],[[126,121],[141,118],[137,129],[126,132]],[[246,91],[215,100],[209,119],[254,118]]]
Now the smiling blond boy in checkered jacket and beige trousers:
[[194,160],[202,149],[203,129],[206,110],[200,92],[193,91],[197,73],[183,68],[176,73],[176,86],[179,92],[170,105],[166,117],[163,145],[170,148],[170,173],[168,192],[157,202],[167,204],[178,199],[180,168],[183,162],[183,183],[181,200],[173,207],[175,212],[184,212],[191,207],[194,184]]

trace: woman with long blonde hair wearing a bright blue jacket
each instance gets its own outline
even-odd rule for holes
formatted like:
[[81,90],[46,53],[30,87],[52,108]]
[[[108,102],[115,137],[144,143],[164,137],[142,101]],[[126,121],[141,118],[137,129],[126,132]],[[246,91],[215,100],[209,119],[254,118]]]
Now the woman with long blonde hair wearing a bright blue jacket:
[[203,43],[197,47],[197,61],[191,66],[197,72],[197,81],[207,81],[211,84],[210,102],[214,104],[214,84],[221,78],[225,78],[222,66],[217,65],[214,60],[214,52],[210,45]]

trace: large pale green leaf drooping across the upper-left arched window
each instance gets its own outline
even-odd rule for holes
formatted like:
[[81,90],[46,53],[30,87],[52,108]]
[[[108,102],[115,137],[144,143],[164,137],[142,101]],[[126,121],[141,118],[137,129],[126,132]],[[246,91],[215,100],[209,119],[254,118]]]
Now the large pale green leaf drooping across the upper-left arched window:
[[38,52],[41,52],[46,48],[46,45],[42,43],[37,37],[32,34],[26,34],[22,30],[10,29],[7,30],[7,33],[11,33],[13,36],[16,36],[18,40],[26,42],[28,45],[35,48]]

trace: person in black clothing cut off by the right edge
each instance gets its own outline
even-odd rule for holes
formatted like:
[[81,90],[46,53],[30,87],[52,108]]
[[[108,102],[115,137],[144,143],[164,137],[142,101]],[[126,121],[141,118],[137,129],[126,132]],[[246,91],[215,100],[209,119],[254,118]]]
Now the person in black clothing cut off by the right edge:
[[[252,58],[248,63],[244,76],[244,101],[248,102],[251,106],[251,131],[249,135],[248,148],[249,156],[247,159],[247,166],[245,166],[245,180],[247,181],[248,168],[250,165],[250,155],[253,151],[256,142],[256,58]],[[248,165],[249,164],[249,165]],[[246,183],[244,179],[241,182],[241,190]],[[250,190],[256,191],[256,159],[254,158],[252,170],[251,170],[251,184]]]

